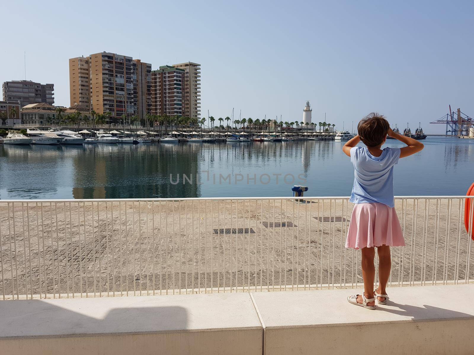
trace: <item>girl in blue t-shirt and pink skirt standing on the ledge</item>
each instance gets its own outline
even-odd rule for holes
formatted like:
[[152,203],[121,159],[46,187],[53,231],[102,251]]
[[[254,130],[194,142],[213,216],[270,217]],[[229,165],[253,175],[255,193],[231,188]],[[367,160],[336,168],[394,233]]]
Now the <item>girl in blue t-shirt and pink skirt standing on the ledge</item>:
[[[346,248],[362,248],[362,277],[364,292],[347,297],[347,301],[370,310],[375,309],[375,298],[386,304],[385,287],[392,262],[390,247],[405,245],[393,199],[393,166],[423,149],[423,144],[394,133],[389,123],[377,113],[363,118],[357,126],[358,135],[348,141],[343,151],[354,164],[354,186],[349,202],[354,203]],[[403,148],[380,149],[387,134],[405,143]],[[362,141],[366,147],[356,147]],[[374,256],[379,255],[379,286],[374,290]]]

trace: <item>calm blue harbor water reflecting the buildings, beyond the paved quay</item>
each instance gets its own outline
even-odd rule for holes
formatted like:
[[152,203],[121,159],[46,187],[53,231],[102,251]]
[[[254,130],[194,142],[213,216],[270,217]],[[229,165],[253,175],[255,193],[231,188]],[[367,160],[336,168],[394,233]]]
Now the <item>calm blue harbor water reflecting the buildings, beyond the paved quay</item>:
[[[474,140],[428,137],[395,166],[395,195],[464,195],[474,180]],[[0,146],[1,199],[348,196],[344,142]],[[386,146],[397,147],[398,141]]]

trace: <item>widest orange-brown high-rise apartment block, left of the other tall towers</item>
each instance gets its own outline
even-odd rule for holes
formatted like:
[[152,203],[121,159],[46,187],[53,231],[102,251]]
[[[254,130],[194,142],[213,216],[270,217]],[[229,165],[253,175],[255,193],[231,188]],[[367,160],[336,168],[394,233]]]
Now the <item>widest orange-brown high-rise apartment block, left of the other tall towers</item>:
[[[88,72],[84,78],[85,72]],[[95,53],[69,60],[71,106],[86,105],[110,121],[151,110],[151,64],[116,53]],[[84,85],[84,86],[83,86]],[[89,91],[87,91],[89,89]]]

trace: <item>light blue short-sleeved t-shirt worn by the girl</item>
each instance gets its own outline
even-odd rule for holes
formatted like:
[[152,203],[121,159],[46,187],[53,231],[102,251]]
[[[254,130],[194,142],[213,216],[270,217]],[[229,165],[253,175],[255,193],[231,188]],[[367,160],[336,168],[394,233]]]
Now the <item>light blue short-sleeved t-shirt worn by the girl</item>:
[[380,157],[374,157],[366,147],[351,148],[354,186],[349,201],[354,204],[378,202],[395,207],[393,166],[399,159],[400,148],[385,148]]

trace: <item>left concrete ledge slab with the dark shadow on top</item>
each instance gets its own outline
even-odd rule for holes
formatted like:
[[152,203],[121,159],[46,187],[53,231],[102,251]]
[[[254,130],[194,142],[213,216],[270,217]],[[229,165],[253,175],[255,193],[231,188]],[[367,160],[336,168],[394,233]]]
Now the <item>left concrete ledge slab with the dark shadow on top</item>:
[[0,302],[2,354],[262,354],[248,293]]

